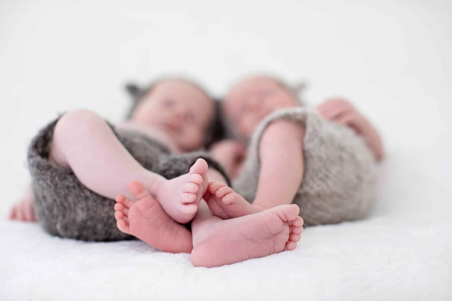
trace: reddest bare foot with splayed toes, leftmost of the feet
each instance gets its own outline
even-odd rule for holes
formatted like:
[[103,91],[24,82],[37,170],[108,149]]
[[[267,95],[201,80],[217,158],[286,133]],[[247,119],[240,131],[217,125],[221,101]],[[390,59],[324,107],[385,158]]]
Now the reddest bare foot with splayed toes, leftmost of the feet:
[[116,196],[114,216],[118,229],[159,250],[190,253],[193,249],[191,232],[170,218],[140,182],[132,182],[129,190],[136,202],[122,194]]

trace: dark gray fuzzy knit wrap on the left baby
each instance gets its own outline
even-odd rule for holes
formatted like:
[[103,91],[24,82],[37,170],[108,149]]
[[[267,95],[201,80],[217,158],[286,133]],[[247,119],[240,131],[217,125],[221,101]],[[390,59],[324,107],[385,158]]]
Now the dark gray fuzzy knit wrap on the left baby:
[[[38,222],[52,235],[85,241],[132,239],[116,227],[113,199],[89,190],[69,167],[56,167],[48,160],[53,129],[58,119],[45,126],[28,148],[28,168]],[[207,161],[228,179],[221,165],[205,152],[173,155],[168,148],[141,133],[116,129],[119,141],[146,169],[172,179],[188,173],[198,158]],[[229,180],[227,180],[229,182]]]

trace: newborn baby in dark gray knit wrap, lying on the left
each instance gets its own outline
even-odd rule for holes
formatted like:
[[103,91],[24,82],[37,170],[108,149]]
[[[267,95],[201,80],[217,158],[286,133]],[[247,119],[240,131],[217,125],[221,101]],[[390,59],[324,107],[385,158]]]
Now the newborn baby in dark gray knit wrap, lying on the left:
[[21,214],[23,208],[32,211],[33,198],[38,220],[52,234],[124,239],[113,224],[113,199],[118,193],[132,197],[128,185],[136,180],[172,222],[187,223],[207,189],[206,160],[221,168],[205,153],[179,154],[201,148],[213,120],[211,98],[183,79],[155,83],[120,125],[91,111],[68,112],[33,139],[28,153],[33,197],[28,194],[10,218],[33,219]]

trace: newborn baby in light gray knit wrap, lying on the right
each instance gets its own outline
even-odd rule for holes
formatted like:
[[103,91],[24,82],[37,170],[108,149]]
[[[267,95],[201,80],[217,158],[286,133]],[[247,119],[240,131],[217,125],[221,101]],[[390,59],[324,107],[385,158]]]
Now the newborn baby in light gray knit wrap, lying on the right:
[[[300,107],[286,85],[260,76],[235,85],[223,109],[249,148],[235,191],[209,183],[204,199],[215,215],[235,218],[293,202],[305,226],[366,216],[375,198],[374,165],[382,144],[349,102],[330,99],[311,111]],[[243,150],[222,142],[213,153],[234,171]]]

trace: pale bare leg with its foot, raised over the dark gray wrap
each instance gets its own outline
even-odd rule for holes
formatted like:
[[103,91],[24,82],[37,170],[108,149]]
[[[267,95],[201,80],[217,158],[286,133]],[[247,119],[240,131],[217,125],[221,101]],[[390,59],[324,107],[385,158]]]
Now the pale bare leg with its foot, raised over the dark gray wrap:
[[166,180],[142,167],[108,124],[91,111],[72,111],[58,120],[50,160],[61,167],[71,167],[83,185],[110,199],[118,193],[133,199],[127,187],[132,181],[139,181],[178,222],[188,222],[196,213],[204,192],[199,185],[206,182],[207,189],[204,160],[198,160],[190,173]]

